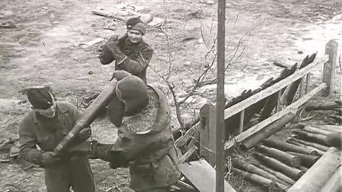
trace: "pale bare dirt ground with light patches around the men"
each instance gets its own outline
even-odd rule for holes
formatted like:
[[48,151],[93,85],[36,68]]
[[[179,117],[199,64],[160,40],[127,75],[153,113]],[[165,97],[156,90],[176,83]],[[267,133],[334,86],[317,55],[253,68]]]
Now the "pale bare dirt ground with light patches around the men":
[[[177,97],[182,99],[214,57],[208,52],[216,33],[215,1],[1,0],[0,24],[13,23],[16,28],[0,28],[0,139],[18,137],[20,120],[29,109],[19,90],[28,85],[51,84],[59,100],[72,102],[80,109],[86,97],[103,90],[114,66],[100,65],[96,50],[111,35],[125,33],[125,26],[123,21],[95,16],[91,11],[103,9],[118,14],[118,10],[128,7],[152,13],[155,21],[163,21],[162,30],[167,36],[158,25],[151,25],[145,36],[155,49],[147,79],[170,97],[160,78],[169,74]],[[342,46],[341,13],[340,0],[227,1],[226,57],[227,63],[232,61],[226,75],[227,98],[278,75],[281,68],[272,64],[274,59],[293,64],[318,51],[316,62],[323,63],[324,46],[331,38]],[[207,78],[214,78],[214,73],[212,68]],[[312,86],[319,81],[321,68],[315,70]],[[336,87],[340,86],[341,70],[336,68]],[[192,118],[194,110],[198,112],[205,102],[214,101],[215,88],[199,88],[182,107],[182,118]],[[336,88],[332,97],[340,94],[341,89]],[[178,126],[176,121],[173,125]],[[101,142],[110,143],[116,137],[106,119],[97,119],[93,132]],[[126,169],[110,170],[103,161],[91,161],[91,165],[98,191],[127,188]],[[0,164],[0,178],[0,191],[45,190],[40,168],[23,171],[17,164]]]

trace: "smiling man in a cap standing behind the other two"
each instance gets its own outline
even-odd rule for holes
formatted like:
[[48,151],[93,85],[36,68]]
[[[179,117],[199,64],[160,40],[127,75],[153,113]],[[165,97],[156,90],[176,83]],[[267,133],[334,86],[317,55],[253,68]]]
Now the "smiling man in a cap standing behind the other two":
[[100,62],[107,65],[115,60],[115,70],[126,70],[146,84],[146,68],[152,58],[153,49],[142,40],[146,33],[145,23],[139,17],[130,18],[126,21],[126,26],[125,36],[112,36],[105,43],[99,56]]

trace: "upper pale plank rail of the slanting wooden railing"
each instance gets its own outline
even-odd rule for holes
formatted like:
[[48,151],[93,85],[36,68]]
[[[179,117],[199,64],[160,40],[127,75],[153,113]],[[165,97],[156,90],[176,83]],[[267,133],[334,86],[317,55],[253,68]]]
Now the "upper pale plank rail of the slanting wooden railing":
[[311,65],[306,66],[305,68],[301,68],[300,70],[297,70],[293,75],[290,75],[289,77],[284,78],[284,80],[281,80],[280,82],[276,82],[276,84],[272,85],[271,87],[268,87],[265,90],[262,90],[261,92],[258,92],[257,94],[252,95],[251,97],[248,97],[246,100],[243,100],[242,102],[239,102],[236,105],[233,105],[232,107],[227,108],[226,110],[224,110],[224,119],[227,119],[228,117],[232,117],[234,114],[241,112],[247,107],[258,102],[259,100],[262,100],[268,97],[269,95],[272,95],[275,92],[283,89],[284,87],[288,86],[292,82],[299,80],[304,75],[309,73],[312,69],[316,68],[316,66],[318,65],[321,65],[321,63],[316,63],[316,64],[313,63]]

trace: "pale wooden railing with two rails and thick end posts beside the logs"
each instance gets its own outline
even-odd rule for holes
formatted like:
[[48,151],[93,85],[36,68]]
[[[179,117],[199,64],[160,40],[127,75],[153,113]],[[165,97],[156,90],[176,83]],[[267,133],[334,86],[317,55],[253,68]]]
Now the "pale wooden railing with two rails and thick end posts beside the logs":
[[[258,124],[254,125],[253,127],[249,128],[247,131],[243,132],[243,126],[244,126],[244,118],[240,119],[240,127],[239,131],[240,134],[237,135],[237,137],[234,137],[233,139],[229,140],[224,146],[224,151],[226,154],[229,152],[230,149],[233,149],[234,147],[238,146],[240,142],[244,142],[245,139],[251,137],[255,133],[259,132],[261,129],[264,129],[267,125],[271,124],[272,122],[280,119],[285,114],[288,114],[289,112],[296,112],[301,105],[304,105],[305,102],[307,102],[311,97],[316,95],[321,90],[324,90],[324,95],[328,95],[332,92],[333,87],[333,73],[334,68],[336,68],[336,62],[337,62],[337,48],[338,43],[334,40],[328,41],[326,44],[326,54],[328,54],[328,60],[324,63],[323,68],[323,82],[318,85],[314,90],[311,90],[309,92],[309,85],[310,85],[310,73],[311,71],[316,68],[319,65],[322,65],[323,63],[312,63],[311,65],[308,65],[304,68],[301,68],[300,70],[297,70],[294,74],[290,75],[287,78],[284,78],[284,80],[281,80],[277,82],[274,85],[271,85],[270,87],[266,88],[265,90],[262,90],[261,92],[258,92],[255,95],[252,95],[251,97],[248,97],[246,100],[243,100],[242,102],[237,103],[236,105],[233,105],[232,107],[227,108],[224,110],[224,119],[227,119],[229,117],[232,117],[234,114],[240,113],[241,117],[244,117],[244,110],[247,109],[247,107],[253,105],[254,103],[259,102],[260,100],[263,100],[266,97],[269,97],[270,95],[273,95],[274,93],[278,92],[280,95],[281,90],[283,90],[285,87],[291,85],[292,82],[295,82],[296,80],[301,79],[301,88],[300,88],[300,98],[296,102],[292,103],[291,105],[285,107],[284,109],[279,109],[279,103],[276,107],[276,112],[271,117],[264,119],[262,122],[259,122]],[[304,82],[305,85],[304,85]],[[280,97],[278,97],[279,99]],[[213,105],[204,105],[201,109],[201,136],[200,136],[200,144],[201,149],[200,153],[202,156],[204,156],[205,159],[214,166],[215,160],[213,159],[214,154],[208,154],[208,151],[215,151],[215,135],[216,135],[216,113],[215,113],[215,107]]]

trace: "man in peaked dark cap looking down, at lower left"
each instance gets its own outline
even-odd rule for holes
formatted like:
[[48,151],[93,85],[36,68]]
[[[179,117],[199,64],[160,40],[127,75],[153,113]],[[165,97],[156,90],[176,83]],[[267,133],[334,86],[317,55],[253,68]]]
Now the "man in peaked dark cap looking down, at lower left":
[[32,110],[19,128],[21,158],[44,167],[48,192],[69,192],[70,187],[75,192],[95,191],[88,154],[72,150],[90,137],[89,127],[78,134],[69,151],[61,156],[52,152],[74,127],[81,112],[71,104],[56,102],[48,87],[32,87],[24,92]]

